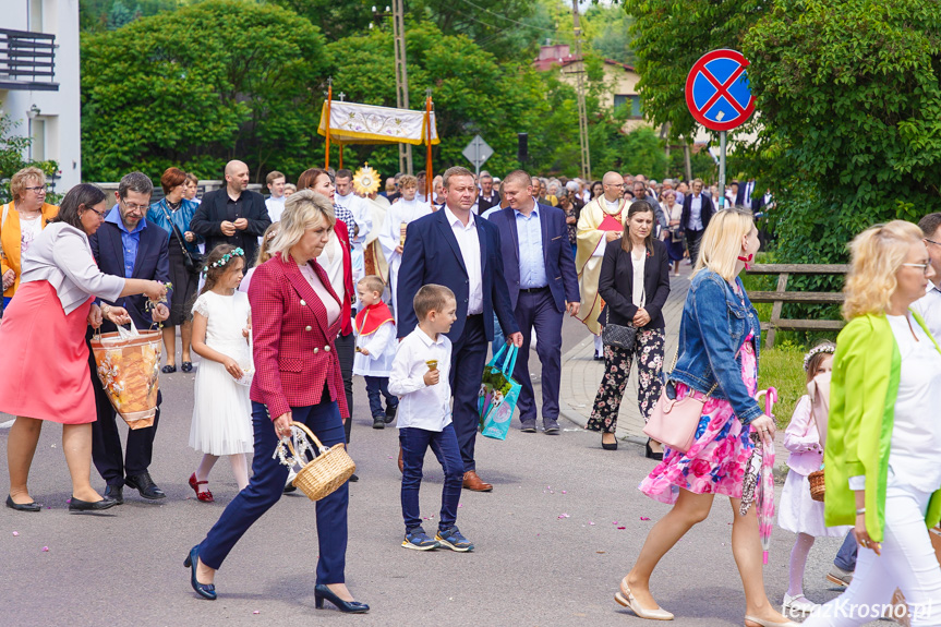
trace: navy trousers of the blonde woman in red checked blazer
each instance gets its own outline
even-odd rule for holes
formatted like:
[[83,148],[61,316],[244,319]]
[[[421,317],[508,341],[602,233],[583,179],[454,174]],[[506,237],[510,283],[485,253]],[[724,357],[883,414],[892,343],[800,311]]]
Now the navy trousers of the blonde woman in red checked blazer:
[[[302,422],[314,432],[324,446],[330,448],[346,441],[340,410],[330,402],[326,388],[319,405],[292,407],[292,420]],[[200,559],[218,569],[245,531],[267,511],[285,490],[288,468],[273,459],[278,438],[268,411],[252,401],[252,424],[255,430],[255,457],[252,481],[222,511],[222,516],[200,544]],[[349,482],[317,501],[317,583],[343,583],[347,555],[347,507],[350,502]]]

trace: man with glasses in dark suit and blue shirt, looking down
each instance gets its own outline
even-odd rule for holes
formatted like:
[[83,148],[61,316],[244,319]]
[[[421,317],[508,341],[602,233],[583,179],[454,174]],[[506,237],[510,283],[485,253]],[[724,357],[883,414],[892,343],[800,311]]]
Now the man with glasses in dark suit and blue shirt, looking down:
[[[150,206],[153,191],[150,179],[142,172],[131,172],[121,179],[116,193],[118,204],[108,213],[105,224],[89,238],[92,252],[102,273],[164,284],[170,280],[167,232],[144,217]],[[170,298],[172,294],[168,292]],[[152,324],[170,316],[169,304],[160,303],[148,309],[146,297],[133,296],[108,304],[126,309],[134,326],[140,329],[150,328]],[[113,331],[114,326],[106,322],[101,330]],[[158,393],[157,415],[153,426],[129,430],[124,453],[118,433],[117,413],[98,378],[95,358],[89,355],[88,362],[98,413],[98,420],[92,423],[92,459],[107,483],[105,496],[117,499],[120,505],[124,502],[123,486],[128,485],[150,501],[166,497],[154,484],[148,471],[162,398]]]

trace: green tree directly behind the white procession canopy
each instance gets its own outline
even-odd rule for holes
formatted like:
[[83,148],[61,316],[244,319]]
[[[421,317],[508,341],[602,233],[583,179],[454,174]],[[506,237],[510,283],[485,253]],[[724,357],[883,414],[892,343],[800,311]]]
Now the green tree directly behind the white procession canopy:
[[[442,143],[434,148],[435,167],[468,165],[461,150],[474,134],[494,148],[486,167],[508,171],[516,161],[517,133],[530,133],[534,164],[548,165],[564,132],[578,132],[574,92],[529,63],[500,64],[469,37],[443,35],[430,22],[409,22],[407,60],[409,108],[422,109],[425,89],[433,89],[435,117]],[[393,37],[388,29],[347,37],[327,46],[336,59],[334,93],[349,100],[396,106]],[[567,117],[566,117],[567,113]],[[555,121],[559,125],[554,125]],[[577,140],[577,135],[576,135]],[[577,145],[577,144],[576,144]],[[351,146],[351,160],[369,160],[383,172],[398,170],[398,148]],[[424,149],[415,148],[415,169],[423,169]]]

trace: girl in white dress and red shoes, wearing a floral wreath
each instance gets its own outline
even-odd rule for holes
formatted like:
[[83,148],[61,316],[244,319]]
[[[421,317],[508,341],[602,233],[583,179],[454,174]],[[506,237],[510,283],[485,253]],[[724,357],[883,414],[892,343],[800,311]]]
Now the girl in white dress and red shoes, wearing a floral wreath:
[[208,483],[220,456],[229,457],[239,490],[249,485],[245,454],[254,449],[254,437],[244,382],[254,371],[248,341],[252,318],[249,297],[237,290],[244,267],[242,249],[216,246],[206,260],[206,285],[193,304],[193,351],[203,362],[196,371],[190,446],[204,455],[190,486],[204,503],[213,502],[213,493],[200,486]]

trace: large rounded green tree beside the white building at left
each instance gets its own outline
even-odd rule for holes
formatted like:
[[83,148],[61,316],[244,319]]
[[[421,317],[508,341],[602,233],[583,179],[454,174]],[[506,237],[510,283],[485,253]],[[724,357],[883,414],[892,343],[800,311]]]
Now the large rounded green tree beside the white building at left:
[[[255,180],[315,162],[329,56],[316,27],[276,5],[213,0],[82,43],[83,169],[117,180],[178,166]],[[319,142],[317,142],[319,144]]]

